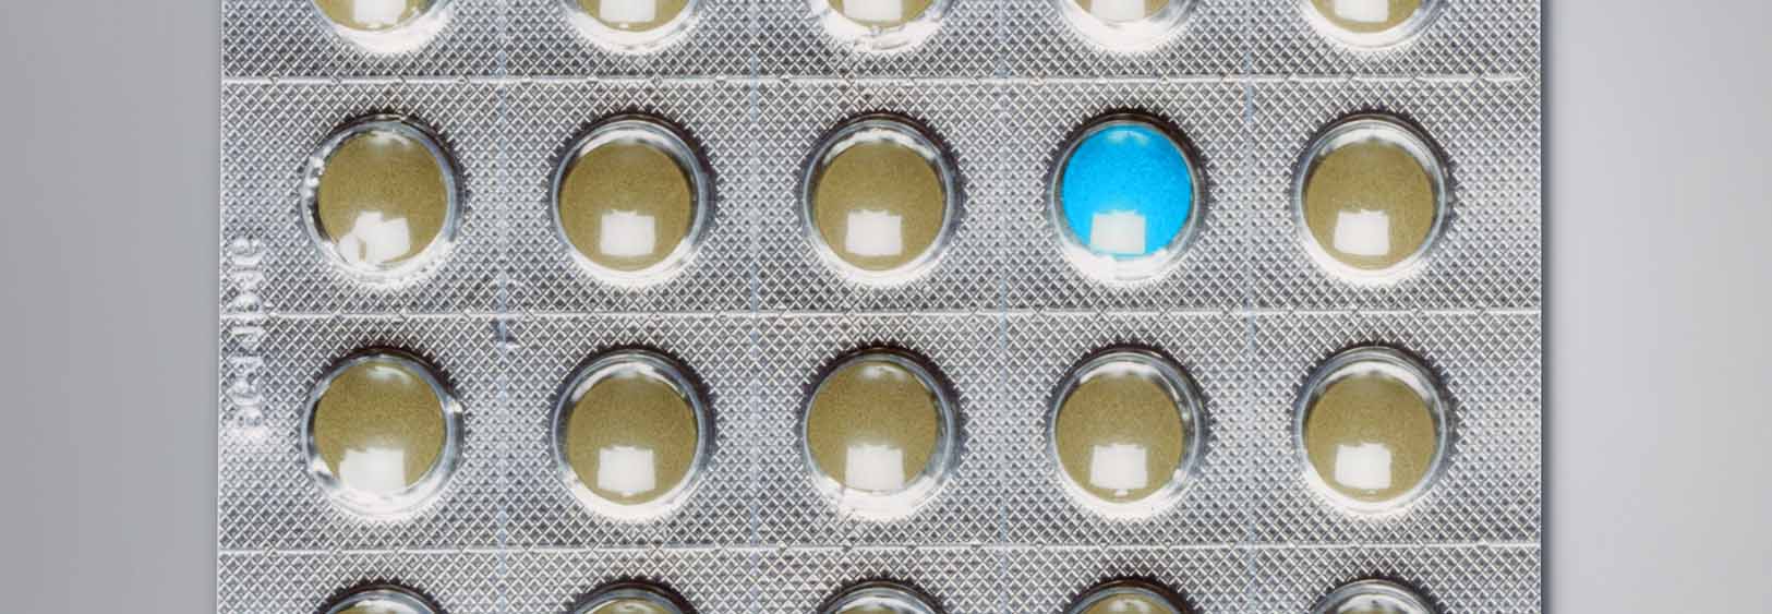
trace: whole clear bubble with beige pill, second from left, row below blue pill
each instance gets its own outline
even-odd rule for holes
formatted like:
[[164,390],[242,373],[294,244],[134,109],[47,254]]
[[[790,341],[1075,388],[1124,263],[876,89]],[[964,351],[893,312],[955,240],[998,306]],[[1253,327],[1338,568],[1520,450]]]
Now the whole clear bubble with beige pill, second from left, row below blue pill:
[[553,417],[555,465],[587,508],[649,520],[679,508],[712,458],[712,410],[688,367],[618,350],[572,374]]

